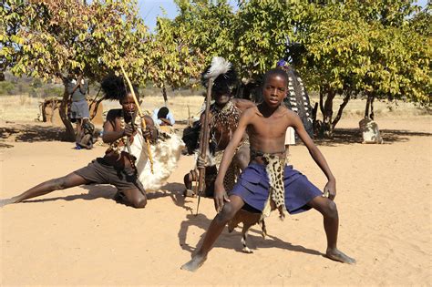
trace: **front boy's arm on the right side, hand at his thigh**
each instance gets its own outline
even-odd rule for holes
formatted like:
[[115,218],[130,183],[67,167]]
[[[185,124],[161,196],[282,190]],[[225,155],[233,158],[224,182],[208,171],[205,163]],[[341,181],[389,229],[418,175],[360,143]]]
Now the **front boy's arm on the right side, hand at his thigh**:
[[327,177],[328,179],[328,182],[324,187],[324,195],[328,194],[328,198],[330,200],[334,200],[334,197],[336,196],[336,179],[334,178],[334,175],[330,170],[330,167],[328,166],[324,155],[315,146],[312,138],[309,137],[309,135],[307,134],[306,130],[304,129],[302,120],[299,118],[299,116],[294,114],[291,119],[293,121],[293,128],[295,129],[295,132],[297,132],[299,138],[302,139],[304,145],[309,150],[309,154],[314,159],[316,164],[320,167],[320,169],[323,170],[325,177]]

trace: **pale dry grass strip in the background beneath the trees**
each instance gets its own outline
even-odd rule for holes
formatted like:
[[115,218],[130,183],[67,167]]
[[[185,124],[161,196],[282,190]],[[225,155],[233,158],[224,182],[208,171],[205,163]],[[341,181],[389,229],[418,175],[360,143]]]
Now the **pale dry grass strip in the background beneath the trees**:
[[[19,96],[0,96],[0,120],[8,121],[33,121],[38,118],[39,102],[41,99],[29,97],[28,95]],[[204,97],[200,95],[191,95],[183,97],[169,97],[168,108],[174,114],[176,120],[186,120],[188,117],[197,118],[199,116]],[[311,98],[312,104],[318,101],[318,98]],[[334,99],[334,116],[337,113],[342,98]],[[104,101],[104,111],[110,108],[119,108],[118,102]],[[141,108],[151,113],[154,108],[164,106],[163,97],[149,96],[144,97]],[[362,118],[365,112],[365,100],[351,100],[345,108],[343,118]],[[383,117],[403,117],[411,118],[423,115],[429,115],[427,108],[418,108],[412,103],[397,102],[375,102],[375,118]],[[321,118],[321,115],[318,116]]]

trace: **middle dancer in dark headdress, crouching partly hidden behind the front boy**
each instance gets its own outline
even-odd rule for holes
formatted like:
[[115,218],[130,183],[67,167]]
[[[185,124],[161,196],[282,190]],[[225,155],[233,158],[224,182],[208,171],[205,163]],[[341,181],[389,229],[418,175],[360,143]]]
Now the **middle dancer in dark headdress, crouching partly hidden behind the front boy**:
[[[222,57],[214,57],[211,66],[207,67],[202,73],[201,82],[204,87],[207,87],[208,81],[206,74],[209,71],[218,71],[214,82],[211,87],[211,97],[214,99],[214,103],[210,107],[210,142],[206,143],[209,145],[209,158],[206,163],[203,162],[204,155],[199,155],[198,165],[199,168],[206,165],[205,171],[205,195],[211,197],[213,195],[214,179],[216,179],[217,169],[221,163],[223,150],[226,149],[230,142],[232,135],[239,125],[239,120],[244,112],[248,108],[255,107],[252,101],[242,98],[232,97],[232,88],[237,83],[237,74],[232,67],[231,63]],[[204,123],[204,113],[201,114],[200,127]],[[197,127],[196,131],[199,130]],[[194,148],[197,146],[197,142],[190,140],[191,138],[198,139],[196,134],[185,135],[183,140],[189,145],[193,145]],[[249,143],[247,141],[247,135],[244,134],[242,142],[236,149],[233,156],[230,168],[224,178],[224,184],[226,190],[231,190],[234,186],[236,176],[240,174],[240,170],[245,169],[249,163]],[[186,190],[185,196],[194,196],[195,193],[192,191],[192,181],[198,180],[198,172],[196,170],[190,170],[190,173],[184,177],[184,183]]]

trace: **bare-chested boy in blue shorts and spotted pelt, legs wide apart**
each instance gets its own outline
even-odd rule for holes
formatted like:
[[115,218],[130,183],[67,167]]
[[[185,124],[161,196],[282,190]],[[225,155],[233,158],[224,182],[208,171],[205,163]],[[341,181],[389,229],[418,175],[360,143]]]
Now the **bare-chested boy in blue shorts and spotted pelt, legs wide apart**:
[[[293,111],[281,106],[283,98],[286,97],[287,82],[287,75],[282,69],[269,70],[263,80],[263,102],[242,114],[239,126],[223,154],[215,182],[214,202],[219,213],[211,221],[199,251],[181,266],[181,269],[193,272],[200,268],[226,223],[244,204],[262,210],[262,216],[268,215],[273,207],[280,211],[281,217],[284,216],[285,209],[291,214],[311,208],[320,211],[324,216],[327,236],[325,255],[334,261],[355,263],[353,258],[346,256],[336,247],[339,218],[334,203],[334,175],[323,154],[303,128],[300,118]],[[323,170],[328,179],[324,195],[328,197],[323,196],[303,174],[292,166],[285,165],[284,138],[288,127],[295,129],[316,164]],[[242,172],[228,198],[222,180],[244,131],[249,135],[251,162]]]

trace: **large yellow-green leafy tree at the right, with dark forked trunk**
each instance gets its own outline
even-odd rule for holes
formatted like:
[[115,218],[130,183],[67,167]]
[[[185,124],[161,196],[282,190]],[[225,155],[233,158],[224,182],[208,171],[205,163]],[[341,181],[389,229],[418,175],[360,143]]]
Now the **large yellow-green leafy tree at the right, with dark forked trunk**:
[[[358,94],[367,95],[367,105],[375,97],[430,104],[430,37],[408,25],[418,11],[412,2],[329,1],[300,7],[303,12],[293,14],[302,23],[295,34],[304,51],[300,69],[320,91],[324,136],[332,136],[349,98]],[[336,94],[344,101],[334,118]]]

